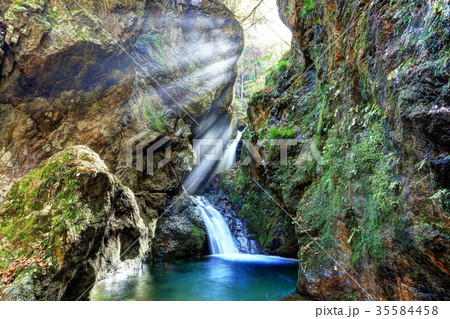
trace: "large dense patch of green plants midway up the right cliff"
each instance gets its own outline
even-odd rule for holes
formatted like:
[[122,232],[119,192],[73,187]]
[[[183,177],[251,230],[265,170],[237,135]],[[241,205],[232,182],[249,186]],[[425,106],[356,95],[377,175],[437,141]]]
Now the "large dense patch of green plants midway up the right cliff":
[[[318,90],[317,97],[324,101],[326,90]],[[361,258],[384,259],[383,238],[394,236],[399,226],[396,209],[400,195],[396,193],[398,181],[394,171],[397,161],[392,143],[387,138],[377,107],[361,107],[359,120],[368,129],[352,133],[331,129],[321,136],[324,121],[330,112],[321,115],[317,122],[316,139],[323,145],[326,163],[323,175],[306,191],[298,207],[299,223],[309,233],[317,234],[321,247],[326,251],[337,248],[336,222],[347,219],[346,227],[352,230],[348,243],[352,249],[351,260]],[[354,123],[351,117],[347,121]],[[390,229],[390,234],[386,232]],[[301,230],[300,230],[301,232]],[[302,247],[300,260],[310,269],[322,269],[329,257],[309,236],[299,237]]]

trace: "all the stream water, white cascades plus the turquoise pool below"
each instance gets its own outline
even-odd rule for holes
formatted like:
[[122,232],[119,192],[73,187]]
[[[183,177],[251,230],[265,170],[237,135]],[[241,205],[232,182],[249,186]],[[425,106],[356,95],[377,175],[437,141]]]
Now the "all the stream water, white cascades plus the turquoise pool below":
[[[241,133],[221,161],[225,169],[234,163],[240,138]],[[197,179],[206,180],[219,168],[211,163],[198,167],[190,185],[195,188]],[[112,278],[94,287],[92,300],[280,300],[294,292],[297,260],[241,253],[242,243],[233,237],[222,214],[206,197],[191,198],[205,222],[212,256],[181,264],[155,263],[139,274]]]

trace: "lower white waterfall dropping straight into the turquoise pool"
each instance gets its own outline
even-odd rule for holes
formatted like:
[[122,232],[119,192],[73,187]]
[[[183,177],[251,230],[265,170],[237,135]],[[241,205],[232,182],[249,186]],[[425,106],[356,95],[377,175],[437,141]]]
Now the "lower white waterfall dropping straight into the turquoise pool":
[[239,254],[236,242],[222,214],[205,197],[193,197],[208,231],[212,255]]

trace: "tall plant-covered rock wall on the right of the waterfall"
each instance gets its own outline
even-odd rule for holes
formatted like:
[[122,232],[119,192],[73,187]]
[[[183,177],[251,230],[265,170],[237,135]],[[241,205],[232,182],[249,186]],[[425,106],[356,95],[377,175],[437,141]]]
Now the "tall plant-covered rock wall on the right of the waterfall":
[[448,5],[278,4],[294,40],[248,110],[268,164],[224,178],[239,215],[262,239],[295,228],[300,294],[450,299]]

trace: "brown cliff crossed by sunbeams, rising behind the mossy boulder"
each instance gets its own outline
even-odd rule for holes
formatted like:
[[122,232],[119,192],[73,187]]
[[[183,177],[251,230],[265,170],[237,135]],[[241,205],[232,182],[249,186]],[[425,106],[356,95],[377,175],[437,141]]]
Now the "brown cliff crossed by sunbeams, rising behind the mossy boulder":
[[[86,145],[135,194],[150,245],[158,215],[192,170],[192,132],[209,113],[232,116],[241,26],[222,2],[209,0],[3,1],[0,17],[0,203],[40,163]],[[136,213],[134,195],[120,187],[130,202],[122,214]],[[74,240],[92,240],[81,237]],[[58,287],[33,294],[73,298],[85,287],[64,285],[73,276],[98,277],[92,263],[100,262],[80,271],[73,264]]]

